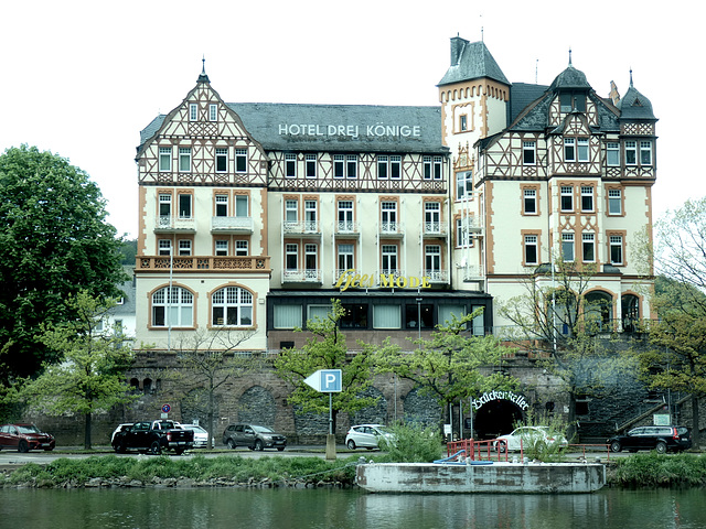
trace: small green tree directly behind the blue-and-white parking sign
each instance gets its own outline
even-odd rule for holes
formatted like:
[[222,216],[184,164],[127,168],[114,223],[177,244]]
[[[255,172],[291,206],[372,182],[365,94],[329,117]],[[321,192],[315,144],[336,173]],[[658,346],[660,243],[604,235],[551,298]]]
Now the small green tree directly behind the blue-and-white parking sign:
[[[274,360],[280,378],[293,386],[288,401],[299,412],[328,413],[329,396],[307,386],[303,380],[319,369],[341,369],[342,391],[332,393],[333,425],[339,412],[355,412],[375,403],[362,393],[372,386],[375,349],[365,344],[355,355],[347,355],[345,335],[339,320],[345,314],[339,300],[331,300],[332,310],[325,319],[307,321],[311,337],[301,348],[284,349]],[[297,332],[302,332],[298,328]]]

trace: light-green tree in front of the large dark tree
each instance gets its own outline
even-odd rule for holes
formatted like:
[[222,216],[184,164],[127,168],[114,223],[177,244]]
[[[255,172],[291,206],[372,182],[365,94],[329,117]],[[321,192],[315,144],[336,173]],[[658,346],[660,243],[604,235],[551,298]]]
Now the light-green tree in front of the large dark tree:
[[45,366],[35,379],[21,380],[18,391],[31,409],[52,415],[83,414],[84,446],[89,450],[93,414],[135,398],[125,381],[132,352],[122,345],[120,330],[106,325],[107,313],[115,303],[104,303],[81,291],[66,305],[75,320],[43,325],[39,336],[63,360]]

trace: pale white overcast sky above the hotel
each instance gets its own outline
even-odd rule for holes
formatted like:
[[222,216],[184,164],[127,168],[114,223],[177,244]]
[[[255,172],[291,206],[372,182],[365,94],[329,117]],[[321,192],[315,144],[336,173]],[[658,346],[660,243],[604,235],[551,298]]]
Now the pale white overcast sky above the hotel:
[[[176,107],[205,56],[226,102],[438,105],[449,40],[484,40],[510,82],[550,84],[568,65],[600,96],[614,80],[653,105],[655,217],[706,195],[704,30],[681,2],[13,1],[0,25],[0,152],[22,143],[98,183],[108,220],[137,237],[136,147]],[[443,6],[453,6],[442,11]],[[694,96],[696,94],[696,97]],[[686,153],[691,158],[684,158]]]

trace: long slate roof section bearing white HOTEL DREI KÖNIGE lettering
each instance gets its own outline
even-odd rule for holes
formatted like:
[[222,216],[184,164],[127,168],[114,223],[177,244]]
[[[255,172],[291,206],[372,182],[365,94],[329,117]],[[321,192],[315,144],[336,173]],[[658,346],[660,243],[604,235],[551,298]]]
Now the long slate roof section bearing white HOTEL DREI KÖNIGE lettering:
[[448,152],[441,143],[440,107],[268,102],[228,107],[266,150]]

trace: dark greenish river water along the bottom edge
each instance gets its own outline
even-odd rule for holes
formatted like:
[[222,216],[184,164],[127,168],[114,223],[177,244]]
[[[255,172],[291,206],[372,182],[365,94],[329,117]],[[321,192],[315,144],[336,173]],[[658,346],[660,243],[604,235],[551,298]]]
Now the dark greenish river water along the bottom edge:
[[373,495],[359,489],[0,489],[1,528],[705,528],[704,490]]

